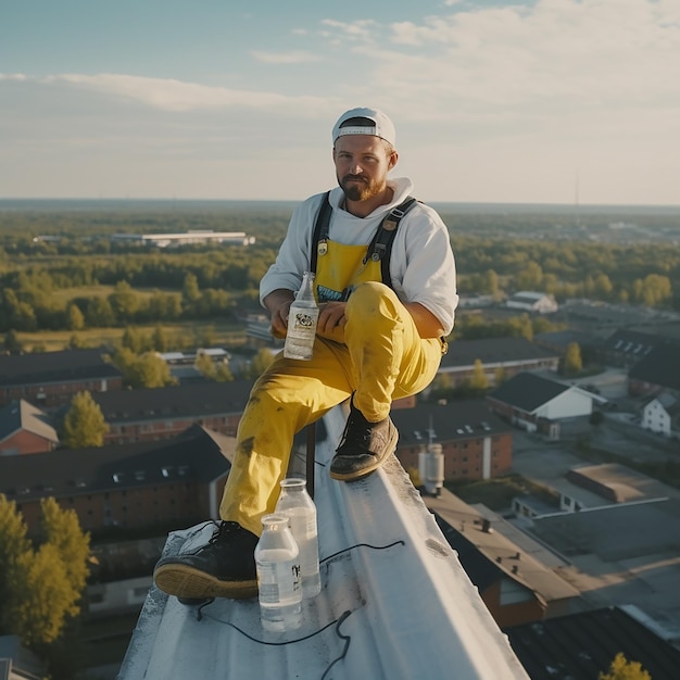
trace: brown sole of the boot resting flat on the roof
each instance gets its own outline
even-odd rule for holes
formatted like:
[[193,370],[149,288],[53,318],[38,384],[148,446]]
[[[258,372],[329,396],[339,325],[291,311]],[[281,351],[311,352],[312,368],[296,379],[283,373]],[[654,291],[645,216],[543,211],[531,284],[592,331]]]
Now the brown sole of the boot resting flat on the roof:
[[163,565],[153,574],[155,584],[165,593],[182,599],[228,597],[248,600],[257,596],[257,579],[221,581],[185,565]]

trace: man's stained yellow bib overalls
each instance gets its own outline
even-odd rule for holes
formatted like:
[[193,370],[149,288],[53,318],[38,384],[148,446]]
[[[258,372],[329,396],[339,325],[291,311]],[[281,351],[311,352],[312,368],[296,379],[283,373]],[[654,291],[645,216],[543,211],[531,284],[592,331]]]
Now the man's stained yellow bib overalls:
[[380,262],[363,264],[366,245],[319,242],[315,294],[320,302],[352,288],[347,325],[317,335],[312,361],[284,357],[253,386],[239,423],[236,457],[222,498],[222,519],[256,536],[274,512],[293,437],[345,401],[372,421],[389,415],[394,399],[425,389],[437,374],[442,344],[421,340],[411,314],[381,281]]

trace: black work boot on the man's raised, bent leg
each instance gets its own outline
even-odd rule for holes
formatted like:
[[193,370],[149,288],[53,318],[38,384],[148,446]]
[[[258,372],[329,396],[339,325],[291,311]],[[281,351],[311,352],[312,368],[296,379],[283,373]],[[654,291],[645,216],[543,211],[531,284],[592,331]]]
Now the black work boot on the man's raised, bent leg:
[[391,418],[369,423],[350,402],[350,415],[340,445],[330,463],[330,476],[353,481],[377,470],[396,449],[399,431]]

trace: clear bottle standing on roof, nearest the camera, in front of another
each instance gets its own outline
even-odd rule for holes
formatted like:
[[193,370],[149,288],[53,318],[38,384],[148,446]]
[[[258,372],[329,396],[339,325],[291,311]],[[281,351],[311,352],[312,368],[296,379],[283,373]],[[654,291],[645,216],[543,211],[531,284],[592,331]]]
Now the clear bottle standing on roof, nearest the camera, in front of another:
[[294,630],[302,624],[300,551],[287,515],[265,515],[262,526],[255,546],[262,626],[272,632]]

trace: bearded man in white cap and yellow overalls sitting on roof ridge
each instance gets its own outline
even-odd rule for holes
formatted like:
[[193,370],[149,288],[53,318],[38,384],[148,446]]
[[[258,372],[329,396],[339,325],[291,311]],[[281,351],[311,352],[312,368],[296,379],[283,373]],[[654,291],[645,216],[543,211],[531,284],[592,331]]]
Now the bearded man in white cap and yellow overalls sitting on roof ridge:
[[[222,499],[223,521],[194,554],[156,565],[156,584],[178,597],[254,596],[262,516],[274,511],[294,435],[349,399],[330,476],[365,477],[396,446],[392,401],[425,389],[445,351],[458,299],[449,232],[426,205],[412,202],[403,214],[412,182],[388,179],[399,158],[392,122],[375,109],[353,109],[333,126],[332,141],[339,187],[328,194],[327,235],[312,242],[326,200],[314,196],[294,211],[260,286],[272,332],[284,337],[293,291],[316,261],[320,313],[314,356],[298,361],[279,353],[253,386]],[[379,259],[367,255],[381,225],[394,231],[391,287],[382,282]]]

